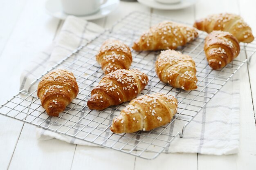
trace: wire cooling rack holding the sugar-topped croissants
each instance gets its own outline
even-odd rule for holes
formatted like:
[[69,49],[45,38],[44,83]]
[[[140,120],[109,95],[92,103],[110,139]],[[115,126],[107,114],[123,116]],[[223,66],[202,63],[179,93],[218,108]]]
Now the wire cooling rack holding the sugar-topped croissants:
[[[240,55],[236,60],[221,70],[212,70],[203,51],[204,38],[207,34],[200,31],[196,40],[178,49],[193,58],[197,69],[198,88],[193,91],[183,91],[161,82],[157,77],[154,65],[159,51],[132,51],[131,68],[138,68],[140,71],[147,73],[149,77],[148,85],[139,95],[156,92],[175,95],[178,99],[178,110],[171,123],[165,126],[151,131],[114,134],[110,131],[112,119],[120,114],[120,111],[127,106],[128,102],[119,106],[110,106],[103,111],[88,108],[87,101],[90,99],[90,92],[104,76],[101,67],[95,60],[95,55],[106,39],[121,40],[132,46],[132,43],[142,32],[163,20],[168,20],[168,18],[148,13],[130,13],[119,20],[112,29],[104,31],[97,38],[86,45],[80,46],[72,54],[58,62],[52,69],[66,68],[72,71],[79,84],[79,94],[76,99],[66,107],[59,117],[49,117],[42,108],[36,91],[27,93],[25,90],[20,91],[3,104],[0,107],[0,114],[106,148],[112,148],[145,159],[154,159],[170,146],[175,137],[178,135],[183,137],[189,122],[234,73],[245,64],[247,58],[252,57],[256,52],[256,42],[251,44],[242,43],[240,44]],[[42,77],[43,75],[38,77],[31,86],[36,86]]]

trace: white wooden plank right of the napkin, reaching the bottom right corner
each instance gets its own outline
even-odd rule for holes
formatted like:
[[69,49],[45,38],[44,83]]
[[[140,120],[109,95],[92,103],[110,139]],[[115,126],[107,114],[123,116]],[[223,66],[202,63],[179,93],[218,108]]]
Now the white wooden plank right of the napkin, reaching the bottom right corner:
[[[237,169],[254,170],[256,167],[256,127],[247,66],[244,66],[241,71],[240,87],[240,143],[236,159]],[[255,90],[255,86],[251,87]]]

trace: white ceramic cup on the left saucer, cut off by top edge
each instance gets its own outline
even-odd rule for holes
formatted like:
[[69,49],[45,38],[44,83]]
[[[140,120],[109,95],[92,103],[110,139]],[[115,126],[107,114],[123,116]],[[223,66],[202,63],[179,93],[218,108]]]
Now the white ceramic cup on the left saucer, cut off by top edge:
[[107,0],[61,0],[63,11],[70,15],[89,15],[99,11]]

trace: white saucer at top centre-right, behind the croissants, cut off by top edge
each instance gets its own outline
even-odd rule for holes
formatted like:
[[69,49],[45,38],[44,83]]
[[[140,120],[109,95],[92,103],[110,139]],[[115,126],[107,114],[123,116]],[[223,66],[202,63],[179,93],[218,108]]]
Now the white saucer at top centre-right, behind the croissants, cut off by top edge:
[[195,4],[196,0],[181,0],[180,3],[175,4],[161,4],[155,0],[138,0],[138,2],[151,8],[170,10],[190,7],[191,5]]

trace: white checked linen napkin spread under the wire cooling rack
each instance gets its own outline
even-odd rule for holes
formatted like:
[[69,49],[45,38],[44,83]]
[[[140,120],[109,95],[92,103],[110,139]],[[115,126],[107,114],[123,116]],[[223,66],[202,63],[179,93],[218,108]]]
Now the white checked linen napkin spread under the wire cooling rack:
[[[34,79],[102,31],[103,28],[94,23],[69,16],[54,43],[40,53],[36,60],[31,62],[27,69],[23,71],[20,78],[20,89],[29,92],[34,91],[36,86],[30,87]],[[239,90],[239,80],[232,78],[186,127],[184,137],[174,139],[164,152],[212,155],[237,153],[239,143]],[[174,123],[174,126],[171,126],[168,130],[175,130],[175,128],[180,128],[179,124]],[[97,146],[42,128],[37,128],[36,134],[39,140],[56,138],[73,144]]]

